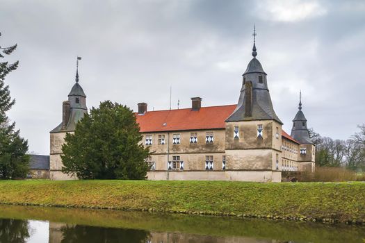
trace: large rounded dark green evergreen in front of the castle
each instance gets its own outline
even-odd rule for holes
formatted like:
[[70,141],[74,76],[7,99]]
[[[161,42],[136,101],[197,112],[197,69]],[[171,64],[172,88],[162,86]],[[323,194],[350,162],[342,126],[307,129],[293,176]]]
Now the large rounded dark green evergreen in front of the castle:
[[133,111],[104,101],[66,134],[62,171],[83,179],[144,179],[149,150],[141,140]]

